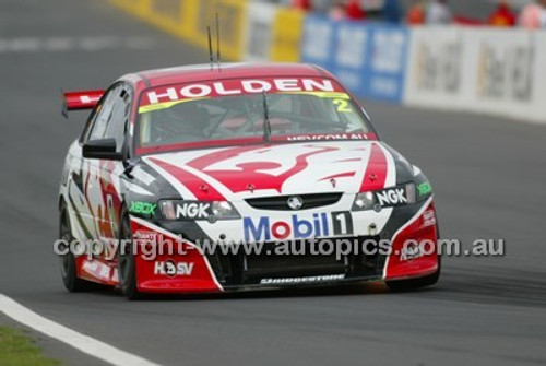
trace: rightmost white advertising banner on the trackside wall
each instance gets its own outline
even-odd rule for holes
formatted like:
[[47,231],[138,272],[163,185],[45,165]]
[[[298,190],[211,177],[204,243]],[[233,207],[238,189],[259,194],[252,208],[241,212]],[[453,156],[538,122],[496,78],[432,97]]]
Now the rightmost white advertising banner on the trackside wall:
[[541,61],[539,36],[523,29],[465,31],[464,46],[475,56],[470,110],[525,119],[546,119],[546,95],[536,76]]

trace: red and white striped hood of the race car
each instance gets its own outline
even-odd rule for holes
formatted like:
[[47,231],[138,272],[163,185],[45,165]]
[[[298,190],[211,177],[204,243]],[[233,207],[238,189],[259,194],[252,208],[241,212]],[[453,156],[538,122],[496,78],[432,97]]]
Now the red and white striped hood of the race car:
[[185,199],[344,192],[394,186],[393,156],[378,141],[306,142],[146,155]]

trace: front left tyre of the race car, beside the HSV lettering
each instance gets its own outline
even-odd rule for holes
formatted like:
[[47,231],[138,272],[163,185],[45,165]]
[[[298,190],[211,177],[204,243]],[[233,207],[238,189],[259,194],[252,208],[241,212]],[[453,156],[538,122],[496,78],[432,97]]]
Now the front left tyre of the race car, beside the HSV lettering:
[[132,248],[132,234],[131,224],[129,222],[129,214],[127,211],[121,213],[121,221],[119,227],[120,243],[126,241],[126,245],[119,247],[118,257],[118,276],[119,287],[127,298],[133,300],[141,297],[136,288],[136,269]]

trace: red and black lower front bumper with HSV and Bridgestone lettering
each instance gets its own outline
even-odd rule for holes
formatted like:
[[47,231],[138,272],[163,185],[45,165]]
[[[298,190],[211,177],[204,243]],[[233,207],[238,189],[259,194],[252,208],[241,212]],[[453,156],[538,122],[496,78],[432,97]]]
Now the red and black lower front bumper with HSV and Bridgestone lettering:
[[[142,250],[135,256],[138,288],[143,293],[215,293],[294,286],[334,285],[364,281],[392,281],[425,276],[438,270],[438,225],[432,198],[396,208],[389,224],[377,236],[346,239],[356,245],[369,240],[389,240],[390,251],[352,251],[340,256],[312,255],[309,241],[305,253],[275,253],[275,244],[266,243],[260,253],[204,252],[189,240],[180,241],[170,231],[147,221],[131,217],[133,235],[142,246],[157,245],[157,238],[178,240],[175,252],[157,251],[153,260]],[[142,240],[145,238],[145,240]],[[153,238],[154,240],[150,240]],[[368,241],[367,241],[368,240]],[[408,240],[426,243],[423,248],[406,247]],[[335,240],[334,240],[335,241]],[[341,243],[341,241],[337,241]],[[361,248],[361,247],[360,247]]]

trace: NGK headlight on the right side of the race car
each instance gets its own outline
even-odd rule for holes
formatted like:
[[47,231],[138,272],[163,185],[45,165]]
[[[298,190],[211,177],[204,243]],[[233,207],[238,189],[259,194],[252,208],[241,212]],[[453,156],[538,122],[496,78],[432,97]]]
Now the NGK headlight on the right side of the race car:
[[383,190],[363,192],[355,197],[353,211],[376,210],[394,208],[415,203],[415,185],[413,182]]

